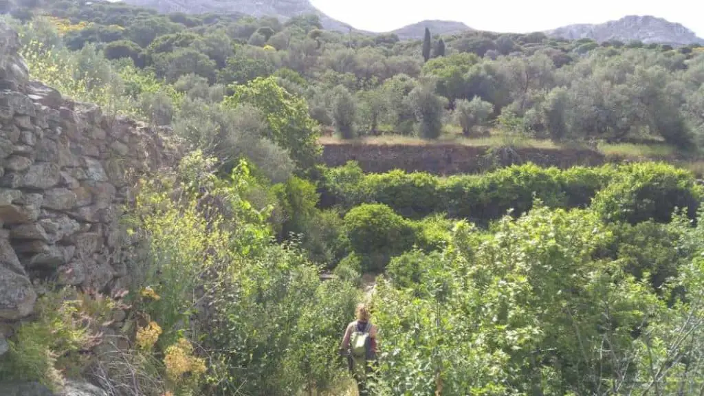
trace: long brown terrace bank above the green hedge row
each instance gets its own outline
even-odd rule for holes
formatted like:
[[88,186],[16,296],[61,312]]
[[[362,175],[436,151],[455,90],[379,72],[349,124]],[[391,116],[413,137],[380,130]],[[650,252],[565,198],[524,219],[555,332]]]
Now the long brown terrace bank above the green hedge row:
[[367,144],[335,142],[323,144],[322,161],[327,166],[344,166],[357,161],[365,173],[394,169],[424,171],[435,175],[482,173],[492,168],[532,162],[539,166],[600,166],[624,159],[590,149],[547,149],[534,147],[489,147],[461,144]]

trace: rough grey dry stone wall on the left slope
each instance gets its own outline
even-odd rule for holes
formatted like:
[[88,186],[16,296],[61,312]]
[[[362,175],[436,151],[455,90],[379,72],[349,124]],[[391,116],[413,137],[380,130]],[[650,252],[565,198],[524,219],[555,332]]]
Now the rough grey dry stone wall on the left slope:
[[40,279],[103,290],[132,175],[170,167],[169,131],[106,115],[27,78],[0,21],[0,343],[3,322],[32,314]]

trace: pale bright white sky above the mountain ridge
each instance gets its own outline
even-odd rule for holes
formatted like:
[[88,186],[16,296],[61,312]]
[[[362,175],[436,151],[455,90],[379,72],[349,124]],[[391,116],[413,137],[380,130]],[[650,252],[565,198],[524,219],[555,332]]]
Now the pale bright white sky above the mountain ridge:
[[573,23],[604,23],[652,15],[704,37],[701,0],[310,0],[328,16],[371,32],[426,19],[457,20],[477,30],[534,32]]

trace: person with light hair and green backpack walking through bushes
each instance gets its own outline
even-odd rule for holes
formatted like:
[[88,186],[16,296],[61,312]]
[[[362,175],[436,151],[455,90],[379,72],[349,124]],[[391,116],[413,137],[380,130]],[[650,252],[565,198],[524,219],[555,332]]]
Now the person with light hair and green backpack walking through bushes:
[[371,366],[377,359],[377,326],[370,322],[369,309],[363,303],[357,306],[356,316],[357,320],[347,325],[340,352],[347,355],[359,395],[367,396],[367,373],[370,373]]

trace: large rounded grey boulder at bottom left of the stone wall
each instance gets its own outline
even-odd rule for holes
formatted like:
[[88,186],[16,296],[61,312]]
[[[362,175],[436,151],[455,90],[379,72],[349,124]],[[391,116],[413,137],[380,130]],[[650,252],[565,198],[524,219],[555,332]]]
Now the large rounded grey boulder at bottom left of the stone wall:
[[[14,321],[29,316],[36,301],[29,278],[0,266],[0,319]],[[0,395],[6,393],[0,391]]]

